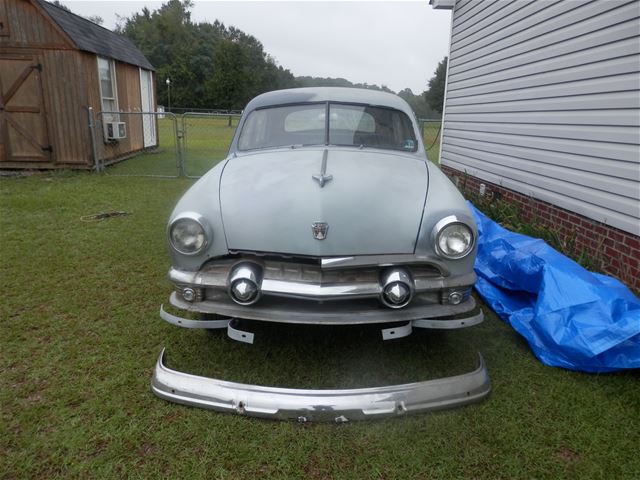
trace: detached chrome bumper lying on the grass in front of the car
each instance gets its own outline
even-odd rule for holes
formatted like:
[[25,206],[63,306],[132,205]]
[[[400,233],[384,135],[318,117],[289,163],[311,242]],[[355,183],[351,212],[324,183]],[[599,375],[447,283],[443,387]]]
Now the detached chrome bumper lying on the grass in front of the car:
[[158,358],[151,390],[165,400],[278,420],[347,422],[396,417],[479,402],[491,391],[482,356],[478,368],[453,377],[353,390],[298,390],[226,382],[178,372]]

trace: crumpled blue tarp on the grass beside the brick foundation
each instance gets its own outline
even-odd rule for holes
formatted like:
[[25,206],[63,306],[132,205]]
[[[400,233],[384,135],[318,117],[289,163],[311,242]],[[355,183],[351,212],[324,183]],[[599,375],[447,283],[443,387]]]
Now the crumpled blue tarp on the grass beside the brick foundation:
[[585,372],[640,368],[640,300],[627,287],[470,207],[479,233],[476,289],[542,363]]

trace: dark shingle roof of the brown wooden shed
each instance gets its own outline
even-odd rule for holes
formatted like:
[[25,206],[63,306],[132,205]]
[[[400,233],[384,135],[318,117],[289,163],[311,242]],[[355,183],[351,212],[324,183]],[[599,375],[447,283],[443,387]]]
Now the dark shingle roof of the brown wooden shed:
[[127,37],[107,30],[45,0],[36,0],[36,2],[71,38],[78,49],[137,65],[147,70],[154,70],[149,60]]

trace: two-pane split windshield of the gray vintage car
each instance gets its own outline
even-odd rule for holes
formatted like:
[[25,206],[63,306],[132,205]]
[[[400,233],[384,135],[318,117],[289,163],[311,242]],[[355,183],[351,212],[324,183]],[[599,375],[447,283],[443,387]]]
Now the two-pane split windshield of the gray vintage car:
[[374,147],[409,152],[418,148],[411,120],[405,113],[393,108],[342,103],[254,110],[238,139],[239,150],[304,145]]

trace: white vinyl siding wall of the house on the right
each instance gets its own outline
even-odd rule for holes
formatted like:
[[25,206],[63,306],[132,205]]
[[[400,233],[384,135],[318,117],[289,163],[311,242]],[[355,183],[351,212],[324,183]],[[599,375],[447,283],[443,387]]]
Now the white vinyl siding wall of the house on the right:
[[640,2],[458,0],[443,165],[640,235]]

